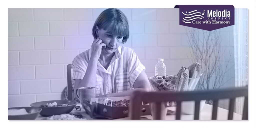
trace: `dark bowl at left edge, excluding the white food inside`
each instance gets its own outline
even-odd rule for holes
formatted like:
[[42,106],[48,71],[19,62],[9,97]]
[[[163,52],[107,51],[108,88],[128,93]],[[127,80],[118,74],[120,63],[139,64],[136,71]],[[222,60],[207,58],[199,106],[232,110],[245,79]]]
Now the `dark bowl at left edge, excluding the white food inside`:
[[26,109],[29,114],[24,115],[8,115],[8,120],[35,120],[42,111],[38,107],[9,107],[9,109]]

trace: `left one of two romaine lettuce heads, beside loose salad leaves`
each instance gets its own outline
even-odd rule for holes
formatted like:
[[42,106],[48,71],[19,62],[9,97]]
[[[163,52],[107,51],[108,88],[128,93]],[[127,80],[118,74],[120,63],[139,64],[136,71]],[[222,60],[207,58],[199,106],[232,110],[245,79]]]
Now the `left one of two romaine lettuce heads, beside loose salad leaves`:
[[188,78],[189,78],[189,72],[188,68],[181,67],[182,69],[179,70],[177,76],[178,76],[178,82],[176,83],[175,91],[186,91],[188,88]]

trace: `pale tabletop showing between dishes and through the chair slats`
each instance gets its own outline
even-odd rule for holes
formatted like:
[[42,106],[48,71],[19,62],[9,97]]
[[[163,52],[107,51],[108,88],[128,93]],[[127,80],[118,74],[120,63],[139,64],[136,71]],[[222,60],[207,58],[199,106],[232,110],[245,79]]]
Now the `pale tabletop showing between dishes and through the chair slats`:
[[[75,108],[70,112],[70,114],[82,114],[83,118],[86,118],[87,120],[94,120],[92,119],[88,114],[86,114],[85,110],[82,109],[81,104],[77,104],[77,106],[81,107],[81,111],[77,111]],[[200,115],[199,115],[199,120],[211,120],[211,112],[212,112],[212,105],[210,104],[205,104],[204,107],[202,108],[202,110],[200,111]],[[144,117],[145,119],[150,119],[152,120],[152,116],[151,115],[144,115],[141,116]],[[43,120],[46,117],[42,117],[41,115],[39,115],[36,120]],[[181,120],[193,120],[194,119],[194,115],[185,115],[182,114],[180,117]],[[228,119],[228,110],[223,109],[223,108],[219,108],[218,107],[218,112],[217,112],[217,120],[227,120]],[[241,120],[242,116],[234,113],[233,114],[233,120]],[[101,119],[102,120],[102,119]],[[103,119],[104,120],[104,119]],[[129,117],[126,118],[119,118],[116,120],[129,120]],[[167,115],[166,116],[166,120],[175,120],[175,115]]]

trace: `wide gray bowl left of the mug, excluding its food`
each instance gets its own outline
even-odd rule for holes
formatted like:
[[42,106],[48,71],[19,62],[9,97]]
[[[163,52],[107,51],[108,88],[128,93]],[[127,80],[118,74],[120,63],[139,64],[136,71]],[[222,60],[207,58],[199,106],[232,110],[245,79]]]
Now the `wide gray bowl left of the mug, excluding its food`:
[[[40,107],[42,104],[46,103],[53,103],[56,102],[57,104],[68,104],[68,106],[59,106],[59,107]],[[72,100],[49,100],[49,101],[41,101],[31,103],[30,106],[32,107],[39,107],[42,109],[40,115],[42,116],[52,116],[52,115],[60,115],[64,113],[70,113],[74,107],[76,107],[77,101]]]

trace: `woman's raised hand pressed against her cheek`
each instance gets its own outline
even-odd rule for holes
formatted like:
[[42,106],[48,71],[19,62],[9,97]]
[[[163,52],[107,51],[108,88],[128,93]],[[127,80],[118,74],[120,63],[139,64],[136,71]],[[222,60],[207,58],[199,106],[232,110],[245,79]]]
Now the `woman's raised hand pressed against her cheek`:
[[99,60],[100,54],[101,54],[101,49],[106,48],[106,44],[99,38],[94,39],[92,42],[92,54],[91,54],[91,59]]

